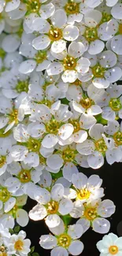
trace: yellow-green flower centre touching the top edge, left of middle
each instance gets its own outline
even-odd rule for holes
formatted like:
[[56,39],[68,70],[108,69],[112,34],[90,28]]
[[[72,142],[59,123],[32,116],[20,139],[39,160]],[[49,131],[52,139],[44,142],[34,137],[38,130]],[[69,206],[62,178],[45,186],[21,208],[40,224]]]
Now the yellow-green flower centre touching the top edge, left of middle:
[[28,13],[38,13],[41,7],[39,0],[22,0],[27,6]]

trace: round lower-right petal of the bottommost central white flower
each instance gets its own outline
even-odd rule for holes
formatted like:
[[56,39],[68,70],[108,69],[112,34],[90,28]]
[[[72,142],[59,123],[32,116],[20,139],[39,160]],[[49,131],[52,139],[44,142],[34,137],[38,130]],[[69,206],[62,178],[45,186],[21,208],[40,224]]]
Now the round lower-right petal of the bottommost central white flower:
[[83,252],[83,243],[80,242],[79,240],[72,241],[70,246],[68,247],[68,251],[72,255],[79,255]]

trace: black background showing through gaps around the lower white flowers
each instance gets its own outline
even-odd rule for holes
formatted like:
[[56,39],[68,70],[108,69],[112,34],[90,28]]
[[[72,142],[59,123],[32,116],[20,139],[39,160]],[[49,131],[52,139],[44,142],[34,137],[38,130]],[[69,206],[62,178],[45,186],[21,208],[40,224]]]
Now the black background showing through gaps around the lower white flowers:
[[[91,176],[92,174],[98,174],[102,180],[102,187],[105,188],[105,198],[108,198],[116,205],[116,213],[112,217],[108,218],[111,223],[109,232],[115,233],[117,236],[122,236],[122,163],[114,163],[113,165],[105,165],[101,169],[84,169],[79,168],[79,172]],[[36,205],[31,199],[28,199],[25,210],[29,211]],[[31,239],[31,246],[35,246],[35,252],[38,252],[40,256],[50,256],[50,250],[44,250],[39,246],[39,237],[41,235],[49,234],[49,229],[46,228],[44,221],[29,221],[28,226],[23,228],[27,232],[27,236]],[[84,250],[82,256],[98,256],[100,253],[96,248],[98,240],[102,239],[101,234],[98,234],[92,229],[89,229],[81,238],[84,244]]]

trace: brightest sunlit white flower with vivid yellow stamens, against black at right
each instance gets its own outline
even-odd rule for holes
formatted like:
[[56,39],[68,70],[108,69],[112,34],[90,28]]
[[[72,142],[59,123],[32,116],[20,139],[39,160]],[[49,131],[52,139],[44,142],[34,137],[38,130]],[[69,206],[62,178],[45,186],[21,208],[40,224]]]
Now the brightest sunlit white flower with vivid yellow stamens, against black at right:
[[102,180],[98,175],[87,178],[83,173],[73,174],[72,184],[76,191],[76,200],[81,202],[92,202],[104,196],[104,189],[101,187]]

